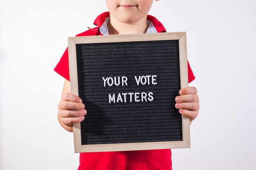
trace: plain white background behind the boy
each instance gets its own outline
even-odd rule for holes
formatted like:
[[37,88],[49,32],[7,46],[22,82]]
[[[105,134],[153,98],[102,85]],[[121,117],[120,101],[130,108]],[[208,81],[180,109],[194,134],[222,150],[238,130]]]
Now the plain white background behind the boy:
[[[256,169],[256,1],[160,0],[149,14],[186,31],[200,114],[174,170]],[[0,0],[0,170],[75,170],[57,121],[67,37],[93,27],[104,0]],[[153,160],[152,160],[153,161]]]

